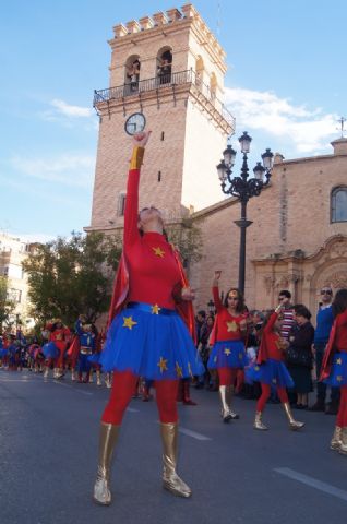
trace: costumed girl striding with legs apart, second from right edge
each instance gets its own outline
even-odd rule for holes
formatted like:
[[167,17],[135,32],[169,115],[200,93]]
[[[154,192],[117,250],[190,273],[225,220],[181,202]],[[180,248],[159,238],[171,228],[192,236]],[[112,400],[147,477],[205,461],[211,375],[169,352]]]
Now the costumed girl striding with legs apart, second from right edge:
[[256,365],[248,370],[248,378],[259,381],[262,386],[262,394],[256,402],[254,429],[266,430],[262,421],[262,415],[266,401],[270,398],[271,389],[275,388],[277,395],[286,412],[289,428],[297,430],[303,427],[303,422],[294,419],[288,402],[286,388],[292,388],[292,379],[284,364],[284,352],[288,343],[280,336],[282,318],[279,317],[282,306],[268,313],[261,329],[261,345],[256,357]]

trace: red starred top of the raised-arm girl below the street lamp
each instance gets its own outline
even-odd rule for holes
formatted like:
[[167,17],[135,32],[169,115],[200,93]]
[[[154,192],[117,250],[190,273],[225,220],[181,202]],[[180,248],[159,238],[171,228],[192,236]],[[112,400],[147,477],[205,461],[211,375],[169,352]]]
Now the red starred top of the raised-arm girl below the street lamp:
[[215,308],[217,310],[216,315],[216,342],[222,341],[240,341],[244,333],[240,330],[240,322],[246,319],[246,314],[240,313],[237,317],[234,317],[229,313],[227,308],[223,306],[219,298],[219,289],[217,286],[212,288],[213,300],[215,302]]

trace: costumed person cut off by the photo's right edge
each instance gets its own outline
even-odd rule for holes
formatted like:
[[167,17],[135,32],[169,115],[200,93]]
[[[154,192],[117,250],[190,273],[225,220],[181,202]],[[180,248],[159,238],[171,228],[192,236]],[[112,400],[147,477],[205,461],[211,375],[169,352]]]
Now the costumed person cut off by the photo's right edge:
[[347,455],[347,289],[339,289],[333,301],[335,318],[324,354],[321,380],[339,388],[340,401],[331,449]]

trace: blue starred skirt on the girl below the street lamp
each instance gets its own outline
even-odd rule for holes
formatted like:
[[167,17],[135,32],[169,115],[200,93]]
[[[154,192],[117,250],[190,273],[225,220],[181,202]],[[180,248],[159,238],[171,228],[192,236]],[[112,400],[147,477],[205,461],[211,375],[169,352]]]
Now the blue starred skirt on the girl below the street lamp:
[[248,358],[242,341],[216,342],[212,348],[207,368],[238,368],[243,369],[248,365]]

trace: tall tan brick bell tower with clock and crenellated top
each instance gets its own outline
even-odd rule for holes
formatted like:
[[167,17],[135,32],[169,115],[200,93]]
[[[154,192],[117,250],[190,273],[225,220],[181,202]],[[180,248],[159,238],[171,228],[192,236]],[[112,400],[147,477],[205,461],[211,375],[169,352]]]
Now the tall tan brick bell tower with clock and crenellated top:
[[192,4],[116,25],[113,33],[110,86],[94,96],[100,124],[88,231],[123,224],[131,114],[143,112],[152,130],[140,206],[156,205],[168,222],[220,200],[215,166],[235,130],[220,102],[225,52]]

